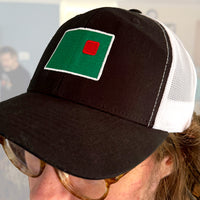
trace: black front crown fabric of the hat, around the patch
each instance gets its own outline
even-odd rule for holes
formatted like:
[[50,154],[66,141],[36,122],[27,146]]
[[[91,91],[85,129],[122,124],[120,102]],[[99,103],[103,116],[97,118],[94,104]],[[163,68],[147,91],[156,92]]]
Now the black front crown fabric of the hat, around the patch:
[[[115,35],[99,81],[44,70],[65,31],[75,27]],[[41,58],[28,91],[56,95],[143,125],[148,124],[154,110],[152,126],[158,109],[154,109],[154,104],[160,84],[163,83],[157,105],[160,104],[171,64],[170,49],[165,71],[166,42],[169,43],[165,41],[161,27],[143,15],[116,8],[90,11],[84,17],[79,15],[66,22],[57,31]],[[168,45],[170,48],[170,43]]]

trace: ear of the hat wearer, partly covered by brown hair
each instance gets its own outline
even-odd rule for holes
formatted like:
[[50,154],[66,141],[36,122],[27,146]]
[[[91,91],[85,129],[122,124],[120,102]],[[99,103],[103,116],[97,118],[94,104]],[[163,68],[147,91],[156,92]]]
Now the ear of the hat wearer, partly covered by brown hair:
[[169,176],[173,171],[173,160],[170,156],[166,156],[160,162],[160,179]]

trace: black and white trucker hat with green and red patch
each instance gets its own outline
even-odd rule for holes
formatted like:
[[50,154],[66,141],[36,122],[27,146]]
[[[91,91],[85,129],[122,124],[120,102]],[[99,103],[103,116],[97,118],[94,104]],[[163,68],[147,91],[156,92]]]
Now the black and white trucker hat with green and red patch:
[[196,74],[172,31],[138,10],[64,23],[27,92],[0,103],[0,134],[89,179],[131,170],[191,122]]

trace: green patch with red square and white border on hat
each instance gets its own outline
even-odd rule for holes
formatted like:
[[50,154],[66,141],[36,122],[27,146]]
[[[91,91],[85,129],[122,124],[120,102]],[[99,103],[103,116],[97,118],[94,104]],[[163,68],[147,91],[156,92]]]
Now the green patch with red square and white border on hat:
[[114,38],[89,28],[67,30],[44,69],[99,80]]

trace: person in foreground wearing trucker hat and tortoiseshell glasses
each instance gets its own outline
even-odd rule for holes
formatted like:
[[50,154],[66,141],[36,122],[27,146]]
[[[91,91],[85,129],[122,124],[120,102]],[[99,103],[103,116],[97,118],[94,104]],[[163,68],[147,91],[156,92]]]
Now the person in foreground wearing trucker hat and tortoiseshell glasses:
[[196,82],[164,24],[95,9],[63,24],[27,92],[0,104],[0,142],[31,200],[199,199]]

